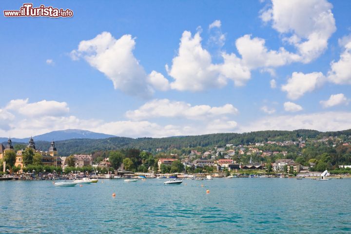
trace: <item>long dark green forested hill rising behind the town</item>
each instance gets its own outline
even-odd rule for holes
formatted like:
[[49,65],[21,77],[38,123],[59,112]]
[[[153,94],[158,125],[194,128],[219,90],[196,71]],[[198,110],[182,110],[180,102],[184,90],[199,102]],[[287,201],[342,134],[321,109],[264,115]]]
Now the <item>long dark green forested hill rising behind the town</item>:
[[[336,136],[351,136],[351,129],[336,132],[319,132],[315,130],[294,131],[259,131],[251,133],[218,133],[201,136],[164,137],[164,138],[128,138],[110,137],[106,139],[70,139],[56,141],[56,147],[60,156],[69,156],[76,153],[93,153],[99,150],[116,150],[120,148],[137,148],[140,150],[155,151],[162,149],[181,149],[197,146],[225,146],[226,144],[247,145],[263,141],[296,141],[299,137],[303,139]],[[36,141],[36,146],[42,150],[48,150],[50,142]]]

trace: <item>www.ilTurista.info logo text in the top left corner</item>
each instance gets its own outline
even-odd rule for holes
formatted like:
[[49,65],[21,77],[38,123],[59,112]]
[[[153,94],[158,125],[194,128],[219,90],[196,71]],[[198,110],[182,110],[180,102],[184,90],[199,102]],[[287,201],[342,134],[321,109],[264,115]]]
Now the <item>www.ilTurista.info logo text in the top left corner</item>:
[[20,10],[5,10],[4,17],[73,17],[73,11],[44,5],[33,7],[33,3],[24,3]]

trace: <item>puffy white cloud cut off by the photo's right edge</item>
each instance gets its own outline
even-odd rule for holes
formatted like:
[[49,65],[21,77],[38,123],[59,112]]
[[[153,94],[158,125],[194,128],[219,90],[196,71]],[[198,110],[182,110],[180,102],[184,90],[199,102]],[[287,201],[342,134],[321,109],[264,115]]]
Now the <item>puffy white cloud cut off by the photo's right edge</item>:
[[336,84],[351,84],[351,38],[344,37],[339,42],[345,50],[340,55],[339,61],[331,62],[328,79]]

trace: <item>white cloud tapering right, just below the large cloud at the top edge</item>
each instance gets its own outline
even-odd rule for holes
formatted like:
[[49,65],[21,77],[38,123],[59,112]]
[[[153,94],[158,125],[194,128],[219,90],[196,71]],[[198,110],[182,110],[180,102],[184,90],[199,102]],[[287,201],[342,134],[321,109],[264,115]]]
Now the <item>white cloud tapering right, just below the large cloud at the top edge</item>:
[[251,38],[251,35],[236,39],[235,45],[242,57],[243,64],[255,69],[258,67],[278,67],[300,60],[298,55],[286,51],[283,47],[280,47],[278,51],[268,50],[265,43],[264,39]]

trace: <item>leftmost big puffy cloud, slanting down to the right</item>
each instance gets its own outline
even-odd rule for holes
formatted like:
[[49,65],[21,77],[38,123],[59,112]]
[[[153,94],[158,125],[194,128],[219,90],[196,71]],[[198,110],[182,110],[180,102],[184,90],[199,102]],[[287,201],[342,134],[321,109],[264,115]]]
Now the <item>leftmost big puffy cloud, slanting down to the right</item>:
[[115,89],[132,96],[148,98],[154,93],[154,85],[164,87],[157,81],[163,83],[165,78],[155,78],[155,74],[150,74],[153,78],[148,79],[144,68],[134,57],[135,45],[135,38],[131,35],[115,39],[109,32],[103,32],[94,39],[80,41],[78,49],[71,52],[71,58],[84,58],[90,66],[109,78]]

